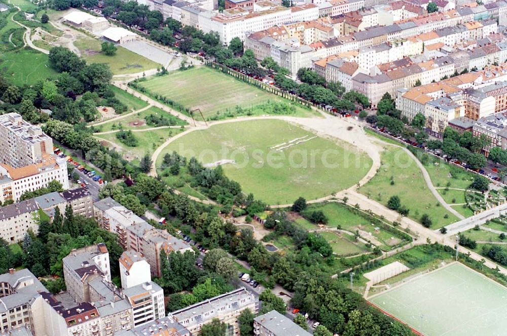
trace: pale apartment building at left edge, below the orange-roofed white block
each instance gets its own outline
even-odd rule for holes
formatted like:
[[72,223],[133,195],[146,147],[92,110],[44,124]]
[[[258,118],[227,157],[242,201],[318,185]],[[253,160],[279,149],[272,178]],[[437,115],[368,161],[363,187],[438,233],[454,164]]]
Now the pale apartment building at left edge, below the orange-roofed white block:
[[39,232],[39,207],[33,199],[0,207],[0,238],[17,243],[28,230]]

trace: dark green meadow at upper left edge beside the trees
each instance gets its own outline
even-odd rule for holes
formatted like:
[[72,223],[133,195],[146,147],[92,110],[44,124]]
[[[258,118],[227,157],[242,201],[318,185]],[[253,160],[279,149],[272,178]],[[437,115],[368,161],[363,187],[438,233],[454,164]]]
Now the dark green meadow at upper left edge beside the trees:
[[19,86],[34,85],[57,75],[48,65],[48,55],[27,48],[0,54],[0,71]]

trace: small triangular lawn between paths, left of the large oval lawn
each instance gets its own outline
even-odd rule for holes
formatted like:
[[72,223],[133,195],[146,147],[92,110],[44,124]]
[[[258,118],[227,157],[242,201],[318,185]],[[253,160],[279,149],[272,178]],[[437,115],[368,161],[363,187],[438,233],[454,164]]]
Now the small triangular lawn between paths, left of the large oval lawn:
[[[164,143],[170,136],[174,136],[180,132],[179,128],[162,128],[158,130],[134,132],[134,136],[138,140],[135,147],[127,146],[121,143],[115,133],[96,135],[99,139],[111,141],[121,147],[121,151],[125,158],[129,160],[140,160],[145,153],[153,153],[158,146]],[[171,133],[172,135],[169,135]]]

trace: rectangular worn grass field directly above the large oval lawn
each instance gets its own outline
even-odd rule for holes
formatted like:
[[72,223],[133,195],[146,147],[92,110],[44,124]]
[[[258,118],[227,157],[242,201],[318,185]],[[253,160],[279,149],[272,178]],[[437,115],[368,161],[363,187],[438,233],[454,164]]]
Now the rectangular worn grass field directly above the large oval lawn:
[[[240,115],[237,112],[237,106],[244,109],[268,101],[291,103],[287,99],[205,66],[185,71],[173,71],[166,76],[150,77],[146,82],[139,82],[139,85],[147,88],[153,94],[163,95],[189,109],[200,108],[206,119],[212,117],[221,119],[228,114],[231,114],[231,117]],[[294,107],[292,113],[294,116],[317,116],[315,111],[306,109],[298,103],[291,104],[291,106]],[[251,114],[266,113],[256,108]]]

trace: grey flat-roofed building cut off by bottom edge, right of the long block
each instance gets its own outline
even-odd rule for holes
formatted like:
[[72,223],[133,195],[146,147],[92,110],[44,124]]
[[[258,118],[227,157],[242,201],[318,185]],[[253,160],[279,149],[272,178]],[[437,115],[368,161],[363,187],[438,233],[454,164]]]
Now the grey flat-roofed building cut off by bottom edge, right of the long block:
[[253,333],[256,336],[310,336],[311,333],[294,323],[276,310],[253,319]]

